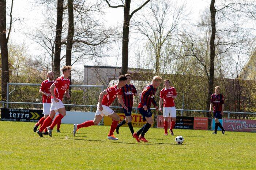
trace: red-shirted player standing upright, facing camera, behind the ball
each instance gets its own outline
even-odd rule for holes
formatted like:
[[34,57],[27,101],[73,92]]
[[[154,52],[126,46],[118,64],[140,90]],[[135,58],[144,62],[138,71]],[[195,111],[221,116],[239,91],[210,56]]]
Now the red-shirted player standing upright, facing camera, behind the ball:
[[162,112],[163,103],[163,117],[165,119],[163,127],[165,129],[165,136],[167,135],[168,128],[168,117],[171,116],[172,122],[170,127],[171,135],[173,135],[173,128],[176,122],[176,108],[174,104],[174,99],[177,98],[177,93],[174,87],[170,87],[170,81],[164,80],[165,88],[160,92],[159,100],[159,111]]

